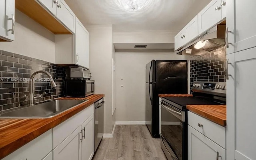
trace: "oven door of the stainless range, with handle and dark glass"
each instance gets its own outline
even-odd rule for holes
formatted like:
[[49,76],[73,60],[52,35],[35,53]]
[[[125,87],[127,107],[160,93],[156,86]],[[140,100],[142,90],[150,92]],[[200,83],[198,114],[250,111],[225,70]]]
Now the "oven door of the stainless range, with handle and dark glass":
[[185,114],[186,112],[161,102],[161,146],[168,160],[184,160]]

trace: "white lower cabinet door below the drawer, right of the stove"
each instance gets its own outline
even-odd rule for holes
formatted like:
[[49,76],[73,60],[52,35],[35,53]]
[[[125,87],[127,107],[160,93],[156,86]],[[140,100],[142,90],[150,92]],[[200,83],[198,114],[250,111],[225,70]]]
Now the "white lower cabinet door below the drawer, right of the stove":
[[226,160],[226,150],[188,125],[188,160]]

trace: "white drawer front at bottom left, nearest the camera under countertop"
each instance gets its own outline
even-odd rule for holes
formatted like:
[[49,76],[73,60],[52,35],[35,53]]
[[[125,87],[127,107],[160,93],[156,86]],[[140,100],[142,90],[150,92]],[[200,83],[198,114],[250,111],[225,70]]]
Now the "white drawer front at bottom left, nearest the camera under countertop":
[[52,130],[48,130],[2,160],[42,160],[52,150]]

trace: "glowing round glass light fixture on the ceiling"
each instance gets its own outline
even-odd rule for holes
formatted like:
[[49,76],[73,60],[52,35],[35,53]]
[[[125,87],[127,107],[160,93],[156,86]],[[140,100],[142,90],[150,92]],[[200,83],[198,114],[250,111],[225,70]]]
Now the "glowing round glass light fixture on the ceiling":
[[118,4],[122,6],[125,10],[136,12],[144,8],[149,0],[117,0]]

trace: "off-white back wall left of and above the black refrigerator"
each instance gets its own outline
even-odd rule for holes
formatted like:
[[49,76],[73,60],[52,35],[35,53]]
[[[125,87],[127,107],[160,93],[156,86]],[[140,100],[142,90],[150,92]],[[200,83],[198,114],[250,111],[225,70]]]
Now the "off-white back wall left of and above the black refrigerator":
[[173,52],[116,52],[116,121],[145,121],[148,62],[188,59]]

